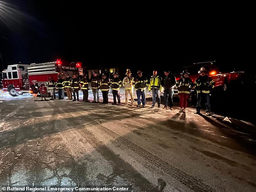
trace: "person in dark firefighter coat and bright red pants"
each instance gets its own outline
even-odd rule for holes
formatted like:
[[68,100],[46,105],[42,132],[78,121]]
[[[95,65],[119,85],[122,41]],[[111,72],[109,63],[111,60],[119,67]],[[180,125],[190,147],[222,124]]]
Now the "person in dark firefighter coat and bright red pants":
[[187,98],[191,90],[190,87],[193,87],[193,81],[189,78],[187,69],[180,73],[180,75],[181,78],[178,79],[176,88],[178,89],[178,94],[180,96],[180,113],[186,113]]

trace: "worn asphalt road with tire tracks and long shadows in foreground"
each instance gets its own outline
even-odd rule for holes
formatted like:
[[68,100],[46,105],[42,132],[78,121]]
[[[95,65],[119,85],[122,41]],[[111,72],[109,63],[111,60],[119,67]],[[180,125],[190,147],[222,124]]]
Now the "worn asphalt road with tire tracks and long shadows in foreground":
[[256,191],[255,136],[149,106],[2,101],[0,185]]

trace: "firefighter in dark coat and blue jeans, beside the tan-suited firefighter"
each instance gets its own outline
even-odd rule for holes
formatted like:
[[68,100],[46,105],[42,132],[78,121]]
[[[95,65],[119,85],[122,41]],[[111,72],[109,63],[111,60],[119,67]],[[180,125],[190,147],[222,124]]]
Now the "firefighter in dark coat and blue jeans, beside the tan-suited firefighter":
[[148,80],[146,77],[142,76],[142,71],[137,72],[138,76],[134,79],[136,94],[137,94],[137,106],[141,106],[142,101],[142,107],[145,108],[146,104],[146,87],[148,86]]

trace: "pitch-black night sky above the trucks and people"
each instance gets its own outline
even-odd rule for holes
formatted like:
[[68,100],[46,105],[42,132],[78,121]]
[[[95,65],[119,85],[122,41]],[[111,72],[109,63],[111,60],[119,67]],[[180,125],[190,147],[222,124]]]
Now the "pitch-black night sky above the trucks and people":
[[[4,15],[1,3],[13,14]],[[176,70],[193,62],[216,60],[223,70],[246,71],[253,62],[254,53],[248,48],[252,44],[250,13],[242,17],[225,8],[195,14],[196,10],[173,13],[175,8],[164,5],[111,6],[0,0],[4,65],[61,58],[93,68],[123,65],[151,70],[167,65]]]

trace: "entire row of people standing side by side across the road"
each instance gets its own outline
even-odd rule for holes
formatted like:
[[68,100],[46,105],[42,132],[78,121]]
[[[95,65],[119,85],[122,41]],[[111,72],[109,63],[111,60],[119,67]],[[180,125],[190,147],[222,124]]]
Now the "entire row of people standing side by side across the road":
[[[93,73],[90,79],[87,78],[87,75],[84,74],[80,78],[78,75],[72,75],[72,78],[69,74],[66,76],[59,76],[57,82],[55,82],[52,77],[49,77],[49,81],[46,83],[48,89],[50,90],[51,99],[56,99],[55,89],[58,89],[59,99],[64,99],[64,89],[67,92],[67,100],[72,100],[73,92],[73,101],[79,101],[79,88],[83,92],[83,102],[88,102],[88,83],[91,82],[91,88],[93,93],[93,101],[99,103],[99,89],[101,89],[103,96],[103,104],[107,104],[109,88],[111,88],[113,94],[113,103],[112,104],[121,104],[120,100],[120,87],[124,86],[125,89],[125,104],[128,104],[128,96],[130,95],[131,104],[134,104],[133,89],[135,87],[137,94],[137,105],[136,107],[145,107],[145,91],[148,87],[149,92],[152,92],[152,105],[151,108],[155,107],[157,104],[158,107],[161,106],[160,92],[164,94],[164,107],[163,109],[173,110],[173,100],[172,100],[172,88],[176,85],[178,89],[178,94],[180,98],[180,113],[186,112],[187,107],[187,98],[190,94],[191,89],[197,90],[197,111],[195,114],[200,113],[201,109],[201,100],[206,99],[206,115],[210,115],[210,90],[214,88],[214,81],[206,73],[207,70],[204,67],[198,71],[199,77],[193,81],[189,78],[189,72],[184,70],[181,74],[181,78],[176,81],[174,75],[170,73],[169,70],[164,70],[164,77],[157,75],[157,71],[153,71],[153,75],[150,77],[149,81],[145,76],[143,76],[142,71],[137,72],[137,76],[134,78],[131,76],[131,71],[126,72],[126,77],[123,81],[119,78],[118,73],[113,73],[113,79],[107,78],[106,74],[102,75],[102,79],[97,76],[97,73]],[[38,88],[36,81],[33,81],[31,84],[31,92],[33,92],[33,100],[36,100],[36,94],[38,89],[40,90],[41,97],[45,99],[46,96],[46,87],[44,84],[41,84]],[[41,99],[41,100],[42,100]]]

